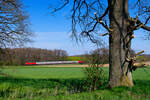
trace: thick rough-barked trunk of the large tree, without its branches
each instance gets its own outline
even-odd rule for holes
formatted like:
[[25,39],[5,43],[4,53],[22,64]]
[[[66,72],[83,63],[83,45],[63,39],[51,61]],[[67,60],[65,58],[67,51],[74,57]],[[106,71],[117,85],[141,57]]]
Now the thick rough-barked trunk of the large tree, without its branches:
[[126,58],[130,57],[130,34],[128,34],[128,0],[108,0],[109,36],[109,87],[133,86],[132,73]]

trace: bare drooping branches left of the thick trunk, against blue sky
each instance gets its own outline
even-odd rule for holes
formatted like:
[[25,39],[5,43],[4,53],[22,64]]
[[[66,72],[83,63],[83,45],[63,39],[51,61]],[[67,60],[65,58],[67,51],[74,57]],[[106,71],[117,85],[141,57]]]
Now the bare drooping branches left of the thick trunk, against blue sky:
[[[105,7],[101,0],[62,0],[63,5],[59,8],[55,8],[55,12],[64,8],[68,3],[72,4],[71,9],[71,20],[72,20],[72,36],[75,39],[81,40],[80,37],[84,36],[90,39],[92,42],[95,42],[96,35],[99,37],[97,32],[99,32],[97,27],[104,27],[109,32],[107,21],[104,21],[105,17],[109,12],[110,7]],[[94,12],[97,12],[97,19],[95,18]],[[104,23],[98,21],[103,20]],[[82,37],[83,38],[83,37]],[[94,40],[95,39],[95,40]],[[98,38],[97,38],[98,39]]]

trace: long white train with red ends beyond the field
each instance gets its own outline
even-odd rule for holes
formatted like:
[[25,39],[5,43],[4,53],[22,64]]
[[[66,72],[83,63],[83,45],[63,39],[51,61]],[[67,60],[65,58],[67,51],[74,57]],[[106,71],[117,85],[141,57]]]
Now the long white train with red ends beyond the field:
[[46,62],[26,62],[25,65],[55,65],[55,64],[83,64],[84,61],[46,61]]

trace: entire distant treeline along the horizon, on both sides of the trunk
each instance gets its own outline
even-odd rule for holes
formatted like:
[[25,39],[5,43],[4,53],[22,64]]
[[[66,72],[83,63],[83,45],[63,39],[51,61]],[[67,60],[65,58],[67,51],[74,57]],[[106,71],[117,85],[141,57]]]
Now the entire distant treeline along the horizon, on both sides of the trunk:
[[[131,56],[135,56],[134,50]],[[109,49],[100,48],[87,54],[68,56],[67,51],[40,48],[7,48],[0,50],[0,65],[24,65],[25,62],[42,61],[84,61],[84,63],[109,63]],[[150,55],[144,54],[138,57],[138,62],[150,61]]]

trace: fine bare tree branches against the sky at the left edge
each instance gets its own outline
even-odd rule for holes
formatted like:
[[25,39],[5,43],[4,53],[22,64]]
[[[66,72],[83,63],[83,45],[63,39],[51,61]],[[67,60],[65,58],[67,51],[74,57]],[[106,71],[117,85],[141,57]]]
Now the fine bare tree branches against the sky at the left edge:
[[28,16],[22,9],[20,0],[0,0],[0,48],[30,41]]

